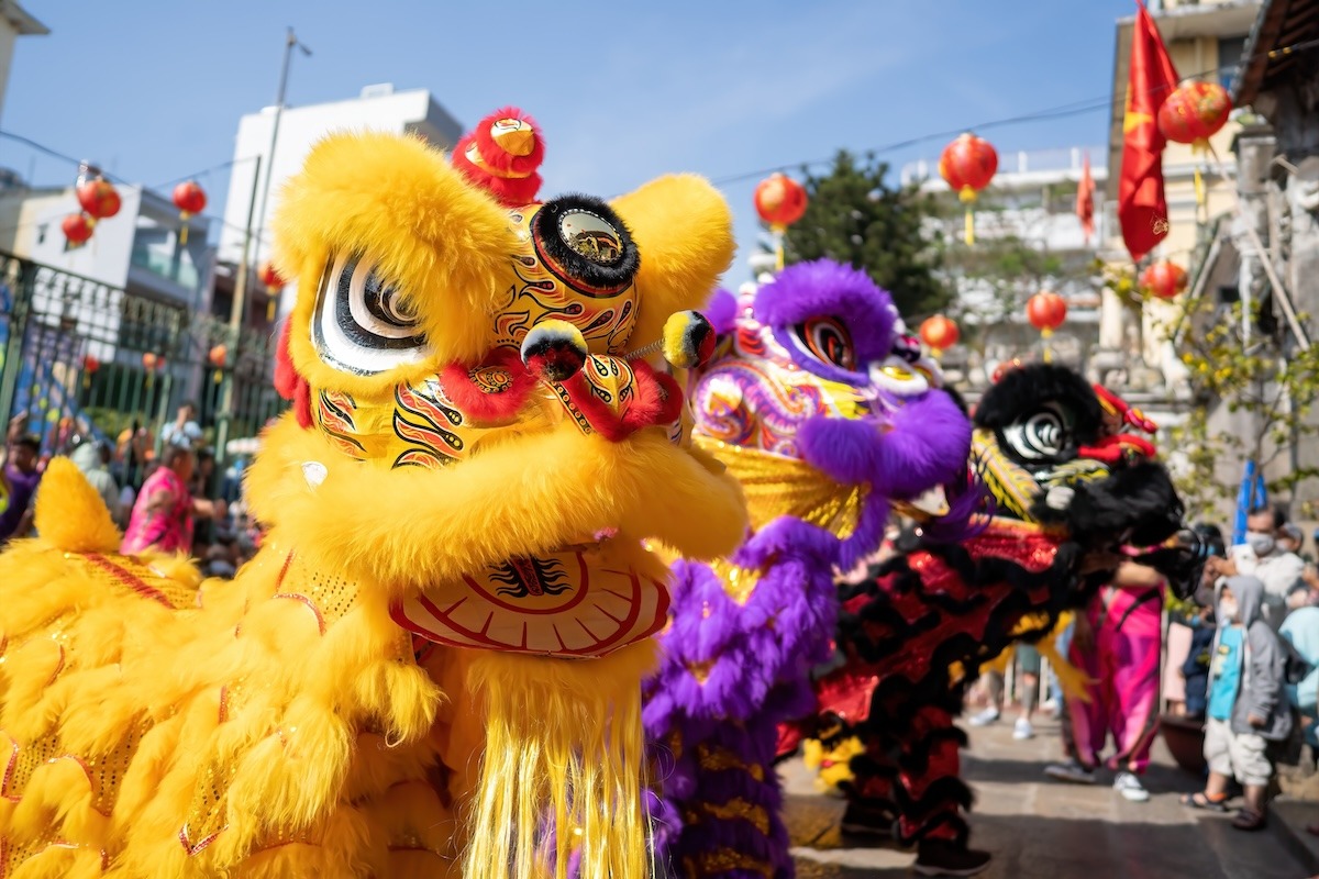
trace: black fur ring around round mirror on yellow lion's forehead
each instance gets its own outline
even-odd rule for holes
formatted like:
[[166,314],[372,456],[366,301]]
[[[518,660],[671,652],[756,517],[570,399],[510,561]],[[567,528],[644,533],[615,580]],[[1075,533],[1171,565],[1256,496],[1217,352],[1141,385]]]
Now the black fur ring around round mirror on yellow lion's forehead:
[[[572,211],[591,213],[613,227],[621,252],[612,262],[596,262],[563,240],[559,220]],[[561,195],[546,202],[532,220],[532,239],[545,258],[546,268],[570,287],[587,295],[612,295],[632,283],[641,269],[641,254],[628,227],[613,208],[591,195]]]

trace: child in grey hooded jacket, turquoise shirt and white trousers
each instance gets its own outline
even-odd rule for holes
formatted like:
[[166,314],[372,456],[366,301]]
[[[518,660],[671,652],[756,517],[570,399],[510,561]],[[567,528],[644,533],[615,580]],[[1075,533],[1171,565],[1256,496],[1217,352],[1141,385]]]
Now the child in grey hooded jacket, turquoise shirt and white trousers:
[[1232,576],[1219,588],[1219,631],[1210,667],[1204,759],[1210,778],[1203,791],[1182,797],[1183,805],[1227,812],[1228,780],[1245,788],[1245,805],[1232,821],[1237,830],[1265,826],[1265,796],[1273,763],[1268,743],[1291,733],[1291,710],[1283,693],[1286,652],[1262,619],[1264,584]]

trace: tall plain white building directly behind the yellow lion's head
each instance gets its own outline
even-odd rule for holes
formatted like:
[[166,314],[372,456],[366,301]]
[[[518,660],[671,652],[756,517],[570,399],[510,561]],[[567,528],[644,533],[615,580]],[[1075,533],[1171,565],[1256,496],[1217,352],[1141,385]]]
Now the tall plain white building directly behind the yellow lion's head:
[[[311,148],[327,134],[340,130],[419,134],[447,150],[452,149],[463,133],[458,121],[431,98],[429,91],[423,88],[394,91],[390,84],[368,86],[361,90],[359,98],[351,100],[285,107],[280,115],[278,141],[274,145],[272,162],[270,136],[274,117],[276,108],[266,107],[239,120],[219,242],[219,260],[223,264],[240,262],[249,213],[253,217],[249,265],[255,268],[270,256],[270,217],[278,210],[280,187],[302,167]],[[257,177],[256,157],[261,159],[260,177]],[[262,220],[261,199],[266,186],[269,186],[269,200]],[[257,231],[256,227],[262,228]],[[293,297],[284,297],[285,308],[291,307],[291,303]]]

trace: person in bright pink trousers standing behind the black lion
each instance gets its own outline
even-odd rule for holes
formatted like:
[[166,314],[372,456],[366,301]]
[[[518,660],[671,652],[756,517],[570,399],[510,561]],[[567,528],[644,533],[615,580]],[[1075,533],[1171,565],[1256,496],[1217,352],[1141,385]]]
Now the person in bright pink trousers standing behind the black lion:
[[1045,770],[1050,778],[1093,784],[1112,734],[1116,752],[1107,766],[1117,774],[1113,789],[1133,803],[1149,800],[1140,776],[1158,731],[1162,617],[1162,577],[1129,561],[1078,614],[1068,660],[1091,679],[1089,701],[1067,700],[1070,760]]

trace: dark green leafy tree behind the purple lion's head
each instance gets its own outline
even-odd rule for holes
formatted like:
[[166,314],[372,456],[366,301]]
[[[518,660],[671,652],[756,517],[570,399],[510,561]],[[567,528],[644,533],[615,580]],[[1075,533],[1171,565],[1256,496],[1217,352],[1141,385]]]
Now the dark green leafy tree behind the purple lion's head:
[[940,249],[927,235],[936,200],[918,187],[893,188],[889,166],[868,153],[839,150],[828,173],[806,173],[806,215],[783,239],[789,264],[828,257],[863,269],[893,294],[905,318],[944,308],[952,293],[940,277]]

